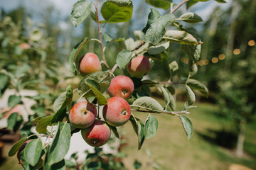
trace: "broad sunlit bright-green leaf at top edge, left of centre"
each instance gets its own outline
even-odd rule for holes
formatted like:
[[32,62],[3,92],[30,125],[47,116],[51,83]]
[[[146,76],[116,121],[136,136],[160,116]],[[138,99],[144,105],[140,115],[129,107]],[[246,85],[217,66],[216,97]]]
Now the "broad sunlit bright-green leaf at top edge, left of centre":
[[107,0],[100,12],[107,23],[122,23],[132,18],[132,11],[132,0]]

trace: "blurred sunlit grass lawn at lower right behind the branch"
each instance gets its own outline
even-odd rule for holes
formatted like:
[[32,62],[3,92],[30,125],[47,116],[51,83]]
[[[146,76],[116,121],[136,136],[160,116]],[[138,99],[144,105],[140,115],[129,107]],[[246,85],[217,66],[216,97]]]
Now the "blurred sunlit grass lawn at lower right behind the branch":
[[[245,137],[245,154],[242,159],[235,157],[235,149],[226,149],[216,144],[217,132],[223,128],[230,130],[232,123],[215,115],[216,106],[208,103],[196,103],[198,108],[191,109],[187,115],[193,123],[193,136],[187,140],[178,116],[154,114],[159,120],[159,131],[153,138],[144,141],[141,150],[137,150],[137,135],[131,123],[122,128],[127,146],[122,152],[127,154],[124,164],[127,169],[135,160],[142,163],[141,169],[154,169],[152,163],[157,163],[162,169],[196,169],[215,170],[228,169],[230,164],[243,164],[256,169],[256,129],[255,123],[247,125]],[[177,103],[177,111],[183,109],[183,103]],[[146,113],[135,113],[142,121],[146,120]],[[236,140],[236,138],[235,138]],[[230,141],[232,142],[232,141]],[[235,141],[233,141],[235,142]],[[149,157],[146,152],[151,152]],[[250,155],[248,155],[250,154]]]

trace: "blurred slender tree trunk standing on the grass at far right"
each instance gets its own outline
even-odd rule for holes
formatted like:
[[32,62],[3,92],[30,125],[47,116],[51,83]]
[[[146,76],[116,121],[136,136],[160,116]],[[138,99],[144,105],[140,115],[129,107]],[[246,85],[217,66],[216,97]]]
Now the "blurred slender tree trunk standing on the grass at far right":
[[242,157],[243,154],[243,145],[245,142],[245,126],[246,126],[246,120],[241,120],[240,121],[240,132],[238,134],[238,143],[237,143],[237,148],[236,148],[236,156],[237,157]]

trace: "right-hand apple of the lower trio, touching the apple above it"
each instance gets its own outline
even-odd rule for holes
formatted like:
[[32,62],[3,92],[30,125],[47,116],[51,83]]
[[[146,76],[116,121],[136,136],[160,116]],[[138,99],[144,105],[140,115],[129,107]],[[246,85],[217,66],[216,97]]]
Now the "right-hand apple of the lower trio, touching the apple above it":
[[124,125],[131,116],[129,103],[121,97],[108,99],[102,112],[105,121],[112,126]]

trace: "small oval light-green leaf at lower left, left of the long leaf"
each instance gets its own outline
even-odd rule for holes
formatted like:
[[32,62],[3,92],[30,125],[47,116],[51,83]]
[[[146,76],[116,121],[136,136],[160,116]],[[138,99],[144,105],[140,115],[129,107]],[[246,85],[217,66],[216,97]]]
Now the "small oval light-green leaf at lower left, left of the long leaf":
[[41,158],[41,152],[43,150],[43,143],[40,138],[28,142],[24,149],[24,156],[28,164],[36,166],[39,159]]

